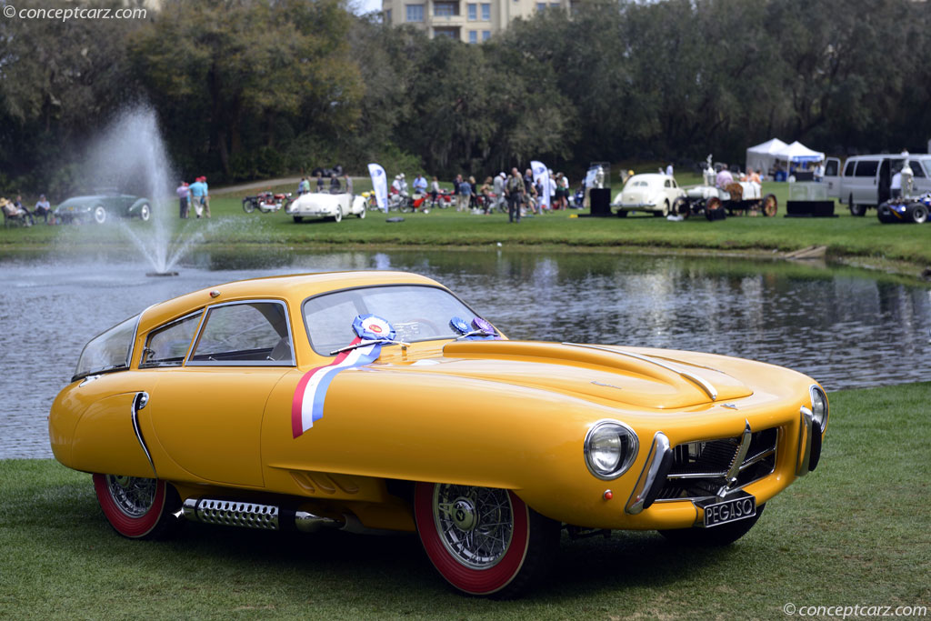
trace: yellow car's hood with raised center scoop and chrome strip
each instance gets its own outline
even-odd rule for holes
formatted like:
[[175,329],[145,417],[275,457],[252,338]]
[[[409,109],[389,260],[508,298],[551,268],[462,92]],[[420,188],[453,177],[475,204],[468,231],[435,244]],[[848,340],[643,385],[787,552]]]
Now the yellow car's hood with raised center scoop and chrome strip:
[[[675,410],[749,397],[735,377],[670,352],[585,344],[462,341],[446,344],[441,358],[393,370],[454,375],[569,394],[610,405]],[[660,356],[659,354],[662,354]],[[687,352],[676,352],[687,357]]]

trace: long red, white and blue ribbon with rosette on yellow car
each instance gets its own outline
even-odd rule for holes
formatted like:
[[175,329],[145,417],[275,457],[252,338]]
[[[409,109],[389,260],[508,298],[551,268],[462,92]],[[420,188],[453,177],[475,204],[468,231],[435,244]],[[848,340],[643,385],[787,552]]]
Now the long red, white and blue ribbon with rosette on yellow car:
[[[356,317],[353,321],[353,330],[358,336],[350,345],[359,344],[364,340],[376,339],[394,340],[395,330],[391,324],[381,317],[365,315]],[[362,367],[371,364],[382,355],[384,343],[362,345],[354,349],[341,352],[330,364],[311,369],[297,384],[294,398],[291,400],[291,432],[294,438],[303,434],[323,418],[323,404],[327,398],[327,390],[333,378],[340,371]]]

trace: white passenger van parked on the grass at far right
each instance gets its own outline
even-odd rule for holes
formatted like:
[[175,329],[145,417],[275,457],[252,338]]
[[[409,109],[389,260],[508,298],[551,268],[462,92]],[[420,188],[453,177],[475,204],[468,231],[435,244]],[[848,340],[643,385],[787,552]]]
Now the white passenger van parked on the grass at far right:
[[843,174],[840,159],[828,157],[825,160],[824,182],[828,184],[828,196],[840,199],[853,215],[865,215],[868,208],[889,200],[892,176],[902,169],[906,159],[914,174],[912,194],[931,192],[931,155],[855,155],[847,158]]

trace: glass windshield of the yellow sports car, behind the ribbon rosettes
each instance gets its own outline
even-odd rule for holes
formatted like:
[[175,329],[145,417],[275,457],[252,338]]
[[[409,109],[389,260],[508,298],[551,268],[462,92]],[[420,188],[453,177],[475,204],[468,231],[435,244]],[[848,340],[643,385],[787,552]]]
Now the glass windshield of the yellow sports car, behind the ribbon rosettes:
[[393,285],[325,293],[304,302],[304,324],[314,351],[330,356],[350,344],[356,338],[353,319],[368,314],[385,317],[397,340],[407,343],[455,338],[459,332],[450,327],[452,317],[476,317],[452,293],[436,287]]

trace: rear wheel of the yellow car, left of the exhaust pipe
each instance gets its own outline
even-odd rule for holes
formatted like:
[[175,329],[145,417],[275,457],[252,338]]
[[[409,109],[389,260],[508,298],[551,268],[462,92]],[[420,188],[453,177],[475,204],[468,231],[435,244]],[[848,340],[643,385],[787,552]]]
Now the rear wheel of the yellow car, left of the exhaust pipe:
[[124,537],[164,537],[181,524],[172,515],[181,508],[181,498],[164,480],[95,474],[94,491],[103,515]]

